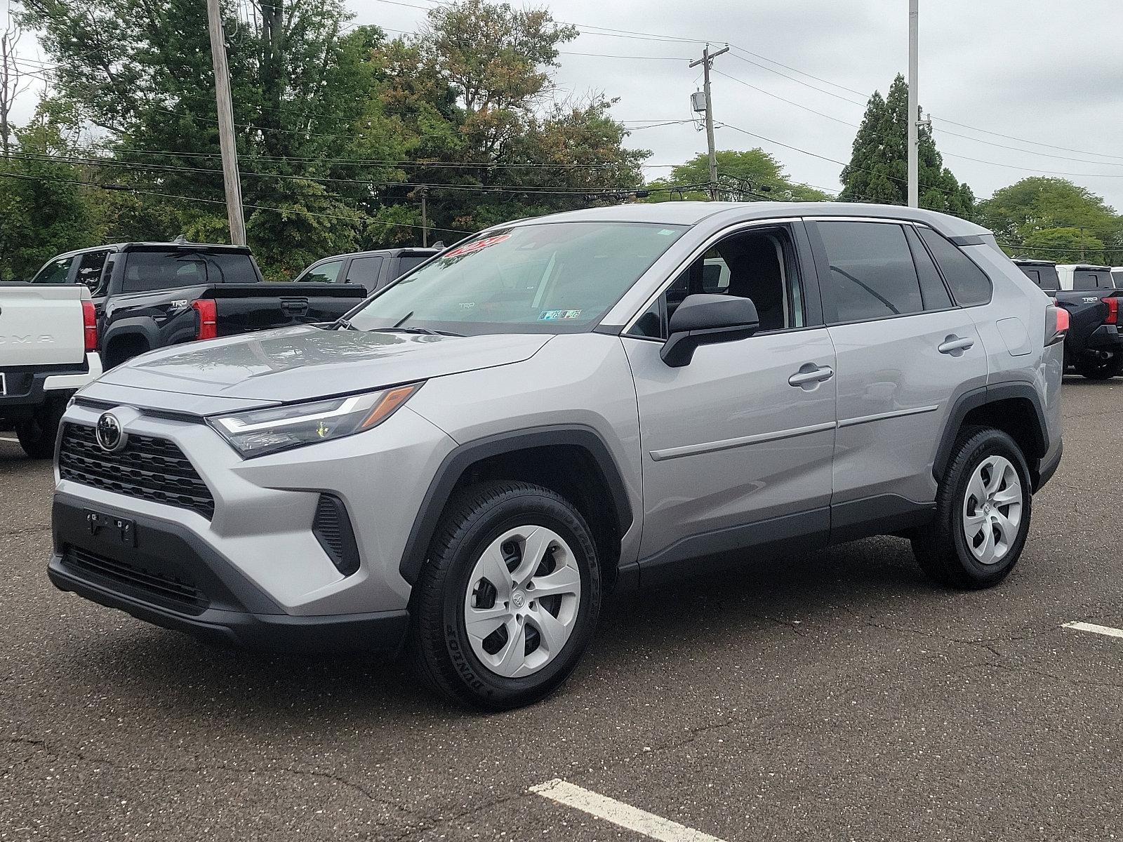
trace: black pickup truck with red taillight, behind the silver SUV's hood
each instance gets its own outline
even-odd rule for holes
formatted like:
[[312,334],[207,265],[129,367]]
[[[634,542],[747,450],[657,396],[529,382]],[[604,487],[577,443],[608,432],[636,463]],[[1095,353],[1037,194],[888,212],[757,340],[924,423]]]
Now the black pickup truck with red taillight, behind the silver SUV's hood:
[[265,283],[248,248],[180,240],[69,251],[31,283],[90,287],[106,368],[195,339],[334,321],[366,294],[360,286]]

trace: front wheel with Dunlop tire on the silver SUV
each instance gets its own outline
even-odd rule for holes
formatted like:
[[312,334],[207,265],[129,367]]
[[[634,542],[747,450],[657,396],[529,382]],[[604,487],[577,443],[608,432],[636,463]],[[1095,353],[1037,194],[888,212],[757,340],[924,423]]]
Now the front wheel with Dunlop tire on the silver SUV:
[[[556,593],[536,598],[544,588]],[[489,711],[531,704],[568,678],[596,629],[592,534],[548,488],[474,485],[445,510],[411,603],[409,657],[430,687]]]

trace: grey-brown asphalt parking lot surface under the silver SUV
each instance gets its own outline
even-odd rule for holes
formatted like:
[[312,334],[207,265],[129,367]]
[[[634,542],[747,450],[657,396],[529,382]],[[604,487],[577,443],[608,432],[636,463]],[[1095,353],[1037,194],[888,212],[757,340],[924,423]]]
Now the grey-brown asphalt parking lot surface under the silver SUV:
[[0,440],[0,840],[646,838],[529,791],[554,779],[727,842],[1121,836],[1123,639],[1063,628],[1123,628],[1121,403],[1066,379],[1002,587],[940,591],[885,538],[618,597],[502,715],[56,592],[49,466]]

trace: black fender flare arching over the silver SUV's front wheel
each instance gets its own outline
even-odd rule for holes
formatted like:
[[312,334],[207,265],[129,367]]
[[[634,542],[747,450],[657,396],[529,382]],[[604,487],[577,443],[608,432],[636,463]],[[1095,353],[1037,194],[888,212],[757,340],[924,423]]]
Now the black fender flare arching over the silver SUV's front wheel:
[[558,445],[578,447],[592,457],[593,465],[596,466],[601,479],[609,489],[619,534],[624,534],[632,524],[628,486],[624,485],[623,475],[612,451],[596,430],[585,424],[551,424],[512,430],[459,445],[441,461],[429,483],[405,541],[405,549],[402,551],[402,560],[398,568],[402,578],[410,585],[417,583],[440,515],[456,484],[473,465],[502,454]]

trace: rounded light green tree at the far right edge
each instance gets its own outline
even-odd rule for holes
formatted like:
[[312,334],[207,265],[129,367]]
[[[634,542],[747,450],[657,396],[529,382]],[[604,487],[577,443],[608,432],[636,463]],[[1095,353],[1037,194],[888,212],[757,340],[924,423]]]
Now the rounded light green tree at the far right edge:
[[1061,263],[1081,259],[1081,250],[1097,262],[1123,255],[1123,217],[1065,179],[1022,179],[980,202],[978,214],[1012,254]]

